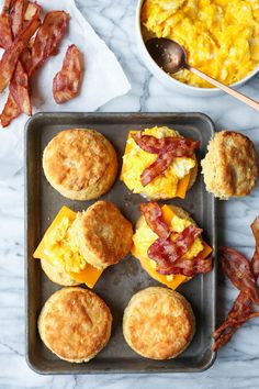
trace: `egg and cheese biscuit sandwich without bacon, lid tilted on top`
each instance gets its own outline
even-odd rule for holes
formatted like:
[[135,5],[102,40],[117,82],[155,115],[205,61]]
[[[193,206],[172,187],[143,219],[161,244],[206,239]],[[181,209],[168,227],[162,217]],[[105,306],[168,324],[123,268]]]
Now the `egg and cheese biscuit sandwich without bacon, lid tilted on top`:
[[63,207],[33,256],[54,282],[93,288],[108,266],[130,253],[132,236],[131,222],[111,202],[77,213]]

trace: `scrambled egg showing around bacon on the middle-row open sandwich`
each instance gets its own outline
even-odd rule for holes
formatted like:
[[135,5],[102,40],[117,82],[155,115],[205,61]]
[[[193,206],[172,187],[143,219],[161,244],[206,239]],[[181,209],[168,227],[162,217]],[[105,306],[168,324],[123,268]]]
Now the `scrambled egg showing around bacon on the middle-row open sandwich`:
[[[192,224],[191,221],[173,215],[170,225],[170,230],[177,233],[173,234],[173,240],[176,240],[179,233],[181,233],[190,224]],[[143,218],[140,225],[137,226],[136,232],[133,236],[134,253],[136,257],[149,259],[147,255],[147,251],[150,247],[150,245],[157,240],[157,237],[158,237],[157,234],[153,232],[153,230],[148,226],[145,219]],[[203,251],[203,248],[204,246],[203,246],[202,238],[196,237],[192,246],[189,248],[188,253],[182,256],[182,259],[191,259],[196,257],[198,254]],[[151,266],[156,267],[156,263],[154,260],[150,262],[151,262]]]

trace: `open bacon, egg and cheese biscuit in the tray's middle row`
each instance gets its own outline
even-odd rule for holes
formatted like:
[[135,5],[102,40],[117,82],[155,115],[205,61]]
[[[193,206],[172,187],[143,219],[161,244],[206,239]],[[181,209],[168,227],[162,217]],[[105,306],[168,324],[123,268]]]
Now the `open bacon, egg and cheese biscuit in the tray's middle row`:
[[157,281],[177,289],[198,274],[212,269],[212,248],[203,241],[202,230],[183,209],[140,204],[132,254]]

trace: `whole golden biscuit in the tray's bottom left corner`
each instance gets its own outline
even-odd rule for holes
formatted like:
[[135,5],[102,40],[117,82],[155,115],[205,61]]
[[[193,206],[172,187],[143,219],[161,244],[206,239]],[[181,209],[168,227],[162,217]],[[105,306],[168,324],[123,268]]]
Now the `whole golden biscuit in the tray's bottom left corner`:
[[43,343],[59,358],[93,358],[111,336],[112,315],[105,302],[83,288],[63,288],[45,302],[38,318]]

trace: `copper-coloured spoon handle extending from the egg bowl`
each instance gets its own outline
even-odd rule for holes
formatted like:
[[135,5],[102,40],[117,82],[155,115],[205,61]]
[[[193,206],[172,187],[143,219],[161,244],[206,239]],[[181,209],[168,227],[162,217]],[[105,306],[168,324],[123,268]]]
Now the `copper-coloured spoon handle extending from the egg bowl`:
[[198,69],[195,69],[192,66],[188,66],[188,69],[190,71],[192,71],[194,75],[203,78],[205,81],[207,81],[207,82],[214,85],[215,87],[224,90],[224,92],[233,96],[234,98],[240,100],[241,102],[245,102],[245,104],[247,104],[247,105],[254,108],[255,110],[259,111],[259,102],[257,102],[256,100],[252,100],[252,99],[248,98],[247,96],[238,92],[237,90],[227,87],[226,85],[215,80],[215,78],[212,78],[212,77],[205,75],[203,71],[198,70]]

